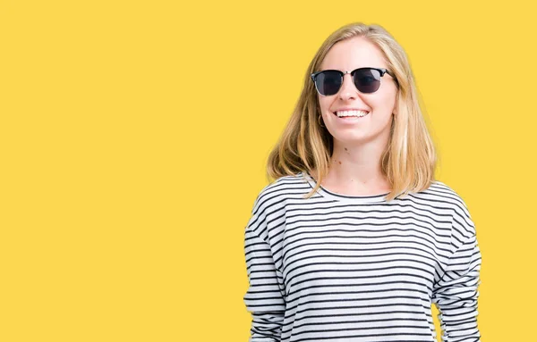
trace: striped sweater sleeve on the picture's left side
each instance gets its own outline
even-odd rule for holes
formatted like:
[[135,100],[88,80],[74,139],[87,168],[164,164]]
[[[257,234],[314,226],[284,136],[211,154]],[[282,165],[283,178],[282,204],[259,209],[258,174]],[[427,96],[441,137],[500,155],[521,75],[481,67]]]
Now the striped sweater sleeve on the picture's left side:
[[268,243],[250,227],[244,233],[244,254],[250,283],[243,297],[252,318],[249,341],[279,342],[286,310],[281,272],[277,271]]

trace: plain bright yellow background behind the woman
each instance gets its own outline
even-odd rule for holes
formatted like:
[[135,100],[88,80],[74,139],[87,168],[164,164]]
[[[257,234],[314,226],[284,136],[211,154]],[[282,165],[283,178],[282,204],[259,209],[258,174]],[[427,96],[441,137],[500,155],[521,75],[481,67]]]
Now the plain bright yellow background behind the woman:
[[246,342],[268,152],[351,21],[410,58],[477,227],[483,341],[532,340],[530,3],[1,1],[0,340]]

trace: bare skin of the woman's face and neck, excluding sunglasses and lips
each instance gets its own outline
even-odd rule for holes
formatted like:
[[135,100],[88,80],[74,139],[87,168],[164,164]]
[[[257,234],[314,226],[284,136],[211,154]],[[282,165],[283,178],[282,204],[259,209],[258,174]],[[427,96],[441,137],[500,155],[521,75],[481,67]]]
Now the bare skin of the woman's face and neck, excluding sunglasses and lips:
[[[356,37],[340,41],[328,52],[320,70],[353,71],[362,67],[387,68],[384,54],[371,41]],[[380,156],[388,145],[391,121],[396,115],[396,82],[388,74],[380,88],[362,94],[354,87],[350,74],[333,96],[320,96],[322,120],[334,138],[334,153],[322,186],[348,196],[372,196],[390,191],[381,172]],[[343,107],[369,111],[358,121],[343,121],[334,114]]]

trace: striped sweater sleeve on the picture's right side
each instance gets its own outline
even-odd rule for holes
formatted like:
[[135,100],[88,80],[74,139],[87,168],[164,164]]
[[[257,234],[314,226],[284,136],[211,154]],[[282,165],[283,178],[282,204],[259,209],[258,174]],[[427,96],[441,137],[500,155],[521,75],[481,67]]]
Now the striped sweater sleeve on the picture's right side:
[[481,253],[474,232],[461,242],[433,288],[432,303],[439,309],[442,341],[479,342],[477,288],[481,282]]

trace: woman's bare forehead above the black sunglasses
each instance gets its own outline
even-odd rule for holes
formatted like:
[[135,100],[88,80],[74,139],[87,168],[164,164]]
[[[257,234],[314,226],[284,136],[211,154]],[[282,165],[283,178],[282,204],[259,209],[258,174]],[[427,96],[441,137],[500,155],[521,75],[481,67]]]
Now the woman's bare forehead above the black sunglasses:
[[352,71],[363,67],[386,68],[387,63],[379,47],[362,37],[337,42],[320,64],[320,70]]

